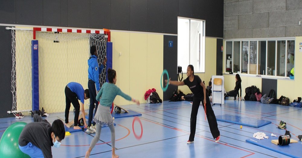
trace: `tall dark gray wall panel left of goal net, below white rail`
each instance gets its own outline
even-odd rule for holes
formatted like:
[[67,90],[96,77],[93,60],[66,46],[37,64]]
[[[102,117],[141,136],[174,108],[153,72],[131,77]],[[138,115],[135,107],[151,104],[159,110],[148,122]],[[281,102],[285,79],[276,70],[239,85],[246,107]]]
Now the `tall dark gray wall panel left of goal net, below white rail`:
[[11,94],[11,30],[7,30],[5,27],[7,26],[0,26],[0,118],[13,116],[7,113],[11,110],[13,100]]

